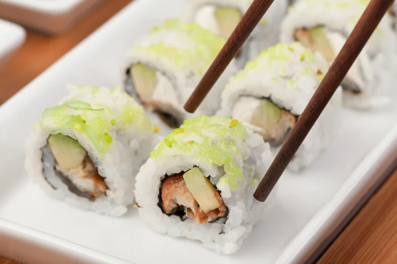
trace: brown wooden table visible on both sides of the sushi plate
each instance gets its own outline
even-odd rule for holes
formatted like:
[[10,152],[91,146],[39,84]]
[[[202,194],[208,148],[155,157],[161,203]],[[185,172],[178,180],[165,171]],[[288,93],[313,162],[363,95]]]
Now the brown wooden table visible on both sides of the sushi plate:
[[[112,0],[59,37],[28,31],[23,47],[0,69],[0,104],[13,96],[131,0]],[[318,263],[397,263],[397,170]],[[0,264],[16,262],[0,257]]]

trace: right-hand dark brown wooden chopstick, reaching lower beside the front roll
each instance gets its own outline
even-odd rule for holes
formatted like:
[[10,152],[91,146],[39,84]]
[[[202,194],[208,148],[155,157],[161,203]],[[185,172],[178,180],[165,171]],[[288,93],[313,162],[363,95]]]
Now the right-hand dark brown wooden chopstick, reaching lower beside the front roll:
[[392,2],[371,0],[255,191],[258,201],[266,200]]

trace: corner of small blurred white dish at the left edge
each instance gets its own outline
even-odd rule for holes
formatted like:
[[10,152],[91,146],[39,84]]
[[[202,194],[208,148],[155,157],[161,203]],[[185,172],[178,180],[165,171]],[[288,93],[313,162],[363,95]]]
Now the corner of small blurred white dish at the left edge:
[[23,27],[0,19],[0,67],[22,45],[25,37]]

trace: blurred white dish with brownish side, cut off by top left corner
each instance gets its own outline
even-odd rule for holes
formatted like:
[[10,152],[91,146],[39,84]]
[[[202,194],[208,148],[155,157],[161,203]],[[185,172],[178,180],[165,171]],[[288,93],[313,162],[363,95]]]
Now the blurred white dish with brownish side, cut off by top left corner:
[[48,34],[73,27],[107,0],[0,0],[0,18]]

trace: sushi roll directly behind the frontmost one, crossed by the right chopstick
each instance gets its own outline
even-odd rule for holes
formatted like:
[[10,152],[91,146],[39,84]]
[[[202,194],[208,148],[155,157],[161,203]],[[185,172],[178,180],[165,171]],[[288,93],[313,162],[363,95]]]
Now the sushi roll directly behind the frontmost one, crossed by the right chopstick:
[[[327,70],[328,63],[319,53],[313,54],[299,42],[278,43],[248,62],[230,80],[218,114],[252,127],[276,154]],[[339,113],[338,105],[340,89],[288,165],[290,170],[309,166],[327,146]]]

